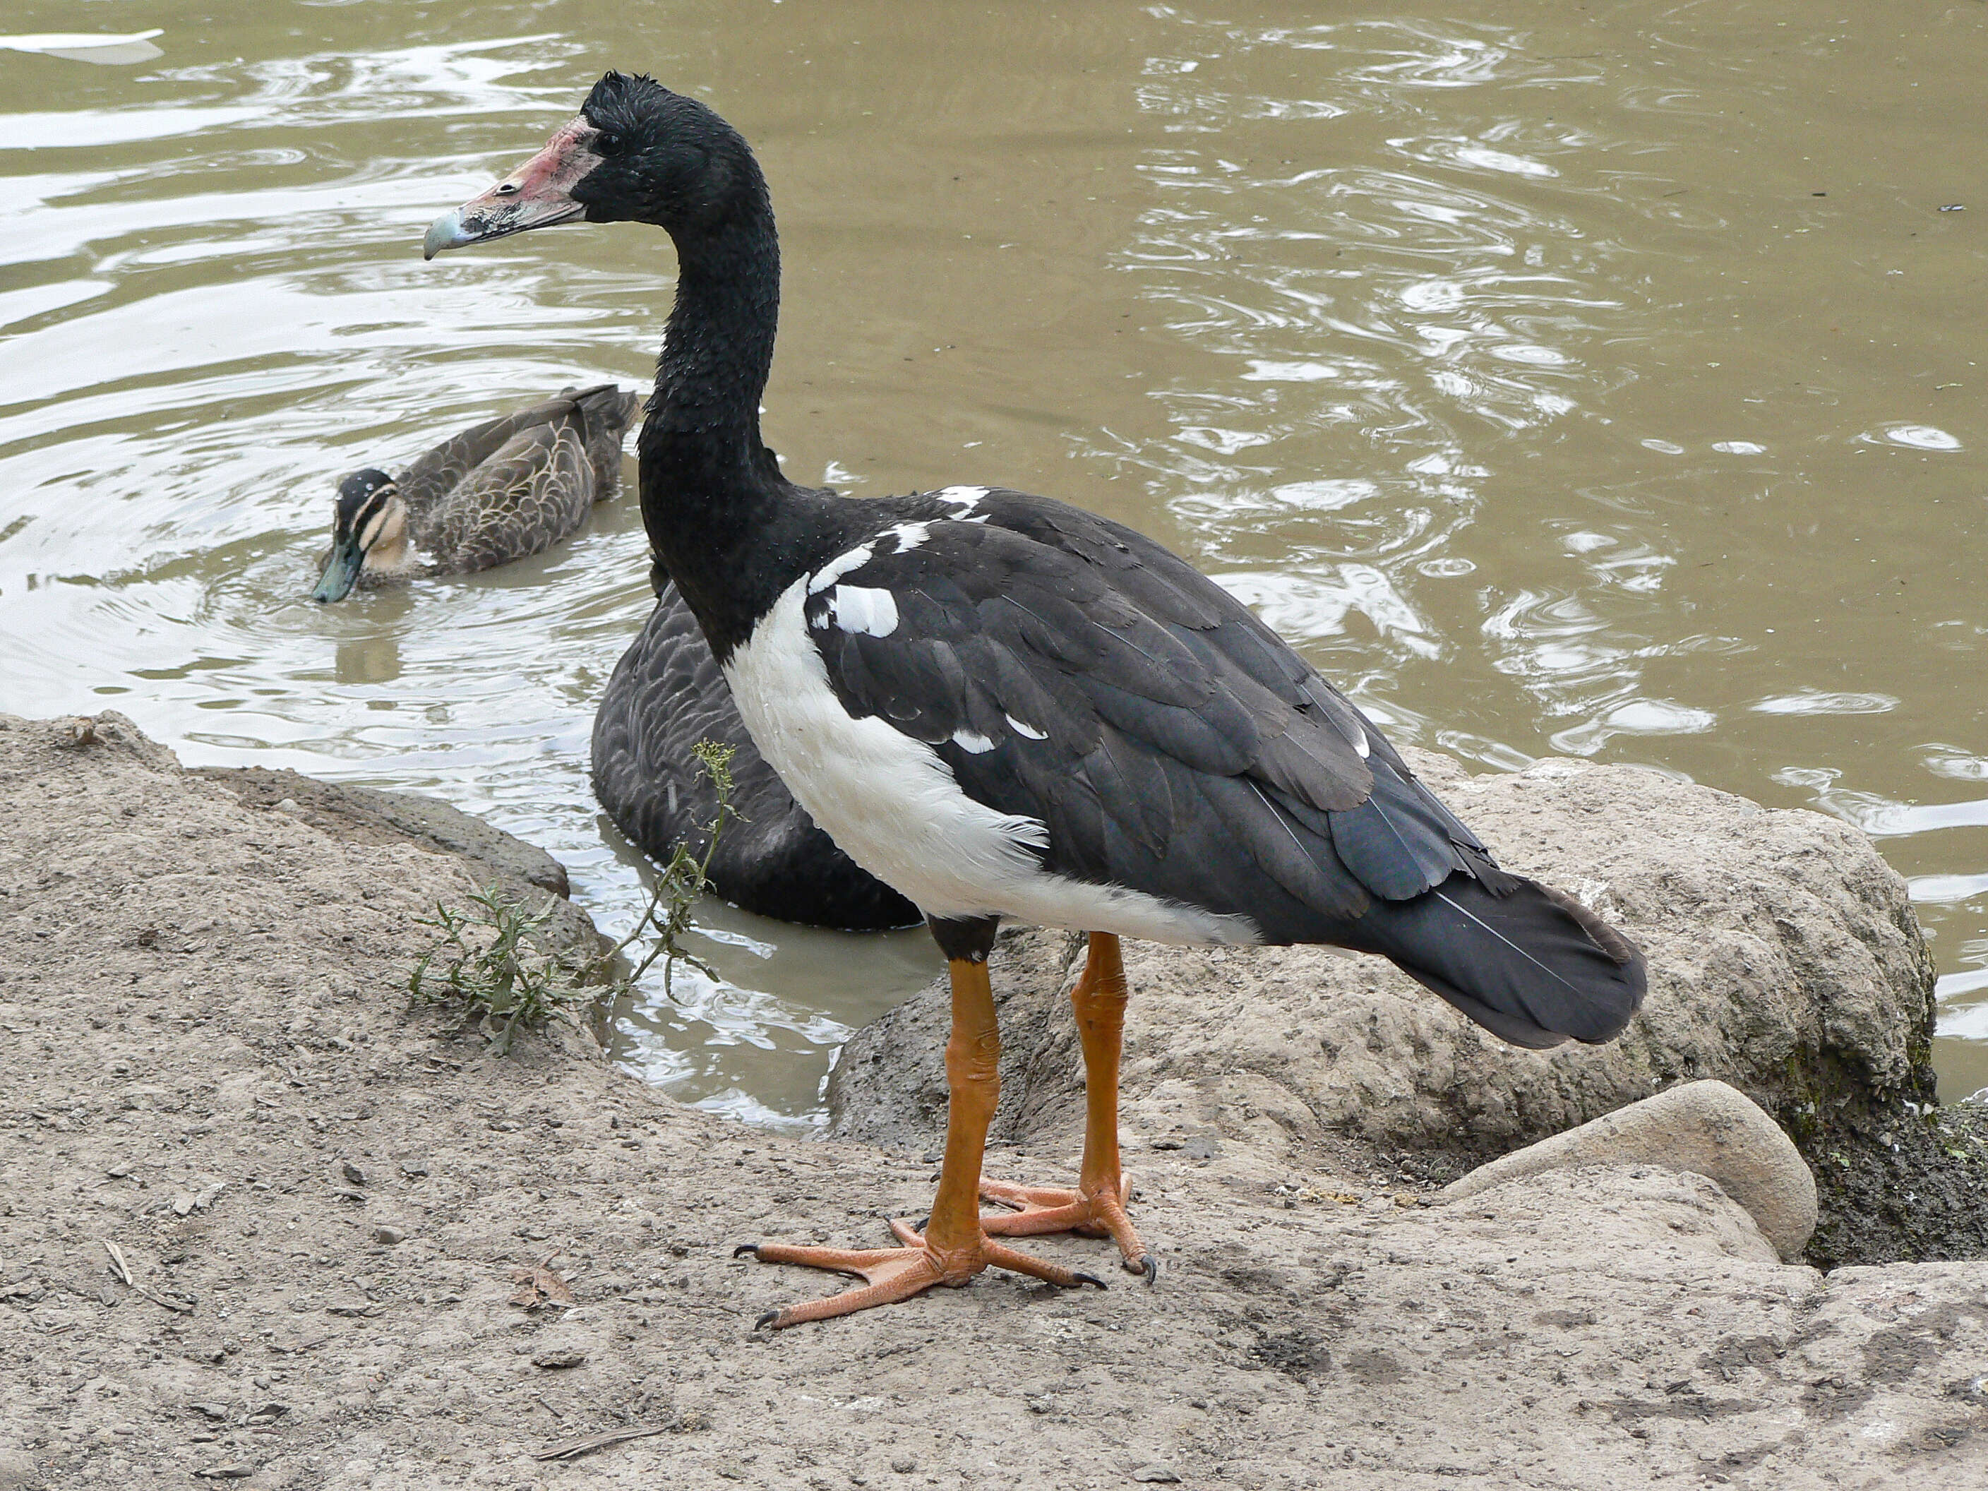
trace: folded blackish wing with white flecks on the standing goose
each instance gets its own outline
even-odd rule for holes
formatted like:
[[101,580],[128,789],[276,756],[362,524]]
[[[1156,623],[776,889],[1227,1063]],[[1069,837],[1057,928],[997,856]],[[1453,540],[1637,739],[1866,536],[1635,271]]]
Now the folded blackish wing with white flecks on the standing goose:
[[1159,545],[1020,493],[966,521],[901,511],[807,600],[829,682],[976,801],[1042,819],[1046,869],[1268,916],[1272,940],[1501,875],[1338,690]]

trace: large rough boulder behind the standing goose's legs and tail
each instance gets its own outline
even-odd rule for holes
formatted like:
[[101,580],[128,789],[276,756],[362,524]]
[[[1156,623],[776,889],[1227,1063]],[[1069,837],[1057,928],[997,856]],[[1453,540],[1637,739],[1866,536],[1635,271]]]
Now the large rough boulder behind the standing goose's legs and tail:
[[[1871,1103],[1930,1099],[1932,964],[1905,881],[1855,829],[1638,767],[1469,777],[1411,759],[1505,865],[1642,944],[1642,1014],[1608,1046],[1521,1052],[1380,958],[1127,944],[1133,1141],[1199,1133],[1276,1159],[1292,1139],[1338,1133],[1497,1153],[1694,1077],[1730,1081],[1797,1139]],[[996,950],[998,1137],[1077,1131],[1077,956],[1054,932]],[[932,988],[861,1030],[829,1083],[835,1131],[928,1145],[944,1119],[944,1028]]]

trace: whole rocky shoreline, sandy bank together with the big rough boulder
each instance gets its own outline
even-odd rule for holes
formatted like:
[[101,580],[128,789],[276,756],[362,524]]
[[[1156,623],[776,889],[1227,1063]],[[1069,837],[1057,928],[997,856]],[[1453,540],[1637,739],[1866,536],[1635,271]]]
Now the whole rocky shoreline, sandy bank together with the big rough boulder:
[[[487,841],[280,775],[183,771],[119,716],[0,720],[0,1487],[1988,1469],[1972,1115],[1914,1111],[1924,952],[1827,819],[1612,769],[1437,777],[1493,841],[1543,845],[1527,869],[1590,867],[1563,881],[1662,972],[1646,1030],[1521,1064],[1370,962],[1141,952],[1127,1135],[1159,1286],[988,1276],[773,1338],[751,1320],[821,1280],[732,1244],[873,1244],[926,1199],[926,1000],[837,1070],[865,1141],[682,1109],[577,1028],[493,1058],[406,998],[415,916],[491,879],[463,859]],[[1004,944],[1006,1179],[1074,1163],[1062,962]],[[1801,1145],[1809,1264],[1970,1260],[1787,1264],[1718,1183],[1646,1159],[1437,1189],[1692,1077]]]

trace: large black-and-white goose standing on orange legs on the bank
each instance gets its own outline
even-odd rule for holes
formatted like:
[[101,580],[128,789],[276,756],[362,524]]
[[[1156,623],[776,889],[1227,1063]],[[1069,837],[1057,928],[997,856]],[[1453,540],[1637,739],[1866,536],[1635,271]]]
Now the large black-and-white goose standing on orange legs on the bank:
[[[779,235],[751,147],[716,109],[610,72],[539,153],[441,215],[423,254],[582,221],[662,229],[676,247],[638,439],[650,549],[759,755],[922,912],[952,992],[928,1215],[891,1221],[875,1248],[742,1242],[734,1256],[861,1280],[757,1326],[986,1268],[1103,1288],[1010,1241],[1054,1231],[1109,1237],[1153,1280],[1117,1133],[1121,938],[1376,954],[1519,1048],[1628,1026],[1648,988],[1636,944],[1503,869],[1352,700],[1163,545],[992,483],[855,499],[781,473],[759,437]],[[1074,1183],[982,1177],[1004,920],[1085,936]]]

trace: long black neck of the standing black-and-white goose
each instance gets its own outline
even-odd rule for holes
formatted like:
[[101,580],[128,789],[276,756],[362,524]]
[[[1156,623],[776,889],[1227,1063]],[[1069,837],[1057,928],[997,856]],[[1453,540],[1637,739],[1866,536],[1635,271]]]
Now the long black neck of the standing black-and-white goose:
[[807,493],[759,443],[779,324],[779,239],[757,165],[726,211],[674,227],[676,306],[642,425],[642,525],[724,660],[799,573]]

